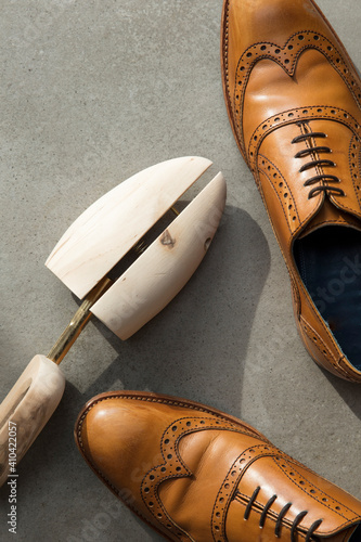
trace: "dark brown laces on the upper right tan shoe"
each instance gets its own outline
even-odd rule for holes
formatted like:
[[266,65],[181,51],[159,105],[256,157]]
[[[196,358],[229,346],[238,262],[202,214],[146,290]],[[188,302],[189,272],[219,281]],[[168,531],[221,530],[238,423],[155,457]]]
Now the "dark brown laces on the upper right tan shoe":
[[[301,136],[297,136],[292,140],[292,144],[295,143],[300,143],[302,141],[308,141],[309,146],[307,149],[304,149],[299,151],[298,153],[295,154],[295,158],[305,158],[306,156],[310,156],[311,160],[304,164],[301,168],[299,169],[299,172],[307,171],[308,169],[318,167],[336,167],[336,164],[333,160],[326,159],[326,158],[319,158],[320,154],[330,154],[332,151],[328,146],[318,146],[313,145],[313,140],[315,138],[321,138],[324,139],[326,138],[326,134],[323,132],[308,132],[308,133],[302,133]],[[321,171],[321,170],[320,170]],[[338,186],[333,186],[330,185],[330,182],[340,182],[338,177],[335,175],[330,175],[325,172],[320,172],[320,175],[315,175],[314,177],[311,177],[308,179],[305,183],[304,186],[310,186],[312,184],[315,184],[317,182],[323,182],[323,184],[320,184],[319,186],[313,186],[309,194],[308,198],[310,199],[311,197],[314,197],[317,194],[324,192],[328,194],[337,194],[337,195],[345,195],[345,192],[338,188]]]

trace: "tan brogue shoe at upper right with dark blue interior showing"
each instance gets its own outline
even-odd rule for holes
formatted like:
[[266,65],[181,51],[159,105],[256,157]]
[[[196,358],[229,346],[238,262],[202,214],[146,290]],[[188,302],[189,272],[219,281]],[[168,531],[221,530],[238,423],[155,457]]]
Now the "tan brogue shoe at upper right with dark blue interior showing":
[[320,365],[361,382],[361,87],[312,0],[225,0],[225,103]]

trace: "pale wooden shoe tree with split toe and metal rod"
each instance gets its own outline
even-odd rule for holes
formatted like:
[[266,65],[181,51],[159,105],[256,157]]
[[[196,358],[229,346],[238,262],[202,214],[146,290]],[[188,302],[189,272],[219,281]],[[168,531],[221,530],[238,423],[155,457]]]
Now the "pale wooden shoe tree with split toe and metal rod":
[[[191,156],[144,169],[92,204],[54,247],[46,266],[83,301],[48,356],[33,358],[0,404],[0,486],[61,401],[65,377],[59,363],[90,318],[127,339],[166,307],[203,260],[225,204],[220,172],[149,247],[140,246],[210,165]],[[111,280],[112,270],[134,248],[139,258]],[[10,453],[15,427],[16,464]]]

